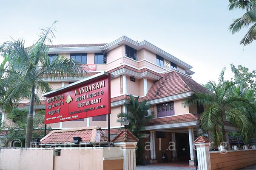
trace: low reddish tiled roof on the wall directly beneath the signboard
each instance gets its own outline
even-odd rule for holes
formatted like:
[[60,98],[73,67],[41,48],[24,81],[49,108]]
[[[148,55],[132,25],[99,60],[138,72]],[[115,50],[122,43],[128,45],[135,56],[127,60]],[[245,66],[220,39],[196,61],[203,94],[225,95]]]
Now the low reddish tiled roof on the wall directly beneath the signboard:
[[108,137],[98,126],[51,131],[40,140],[42,144],[73,143],[73,137],[81,137],[81,142],[107,142]]

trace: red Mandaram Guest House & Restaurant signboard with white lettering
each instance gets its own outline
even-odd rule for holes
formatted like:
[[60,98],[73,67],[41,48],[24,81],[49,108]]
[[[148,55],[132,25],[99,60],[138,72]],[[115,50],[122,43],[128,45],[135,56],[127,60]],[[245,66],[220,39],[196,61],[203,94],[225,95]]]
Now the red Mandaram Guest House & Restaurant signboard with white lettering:
[[110,114],[110,74],[98,75],[46,93],[45,124]]

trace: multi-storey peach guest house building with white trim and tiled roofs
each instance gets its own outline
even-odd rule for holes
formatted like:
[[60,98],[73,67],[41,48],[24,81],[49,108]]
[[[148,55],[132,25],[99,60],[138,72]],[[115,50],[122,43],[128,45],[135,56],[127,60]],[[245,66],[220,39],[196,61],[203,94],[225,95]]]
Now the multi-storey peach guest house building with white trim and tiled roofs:
[[[111,80],[111,135],[117,134],[122,127],[117,123],[117,114],[126,111],[123,105],[129,102],[129,94],[147,99],[152,106],[148,114],[155,118],[147,123],[148,138],[151,150],[145,150],[145,161],[161,162],[162,152],[168,158],[188,159],[193,163],[195,154],[193,141],[199,127],[199,114],[203,108],[184,107],[182,102],[193,92],[205,92],[206,89],[193,81],[192,67],[147,42],[136,42],[122,36],[108,44],[78,44],[49,46],[50,61],[58,55],[80,61],[88,65],[88,72],[77,78],[59,78],[54,81],[45,78],[53,89],[71,84],[80,79],[106,71],[114,75]],[[20,104],[28,107],[29,103]],[[45,100],[34,106],[34,113],[45,109]],[[50,124],[52,129],[100,126],[107,129],[106,115],[80,120]],[[2,122],[6,114],[2,114]],[[226,125],[227,132],[233,130]],[[227,133],[226,133],[227,134]],[[209,135],[210,137],[210,135]],[[176,150],[169,149],[170,142],[176,142]],[[166,151],[167,150],[167,151]]]

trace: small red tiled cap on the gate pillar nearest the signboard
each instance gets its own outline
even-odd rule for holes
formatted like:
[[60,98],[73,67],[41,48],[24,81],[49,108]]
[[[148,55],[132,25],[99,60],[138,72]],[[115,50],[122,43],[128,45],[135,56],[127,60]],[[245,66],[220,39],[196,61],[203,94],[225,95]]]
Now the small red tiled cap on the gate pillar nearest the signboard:
[[111,140],[111,142],[139,142],[139,139],[137,139],[128,129],[123,129]]

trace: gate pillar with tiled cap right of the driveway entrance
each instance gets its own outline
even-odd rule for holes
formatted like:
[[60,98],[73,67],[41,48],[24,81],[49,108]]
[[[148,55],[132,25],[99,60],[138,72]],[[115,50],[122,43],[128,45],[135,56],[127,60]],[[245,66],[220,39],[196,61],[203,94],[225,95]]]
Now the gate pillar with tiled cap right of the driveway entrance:
[[210,141],[200,136],[194,141],[197,153],[197,162],[199,170],[211,170],[210,167]]

